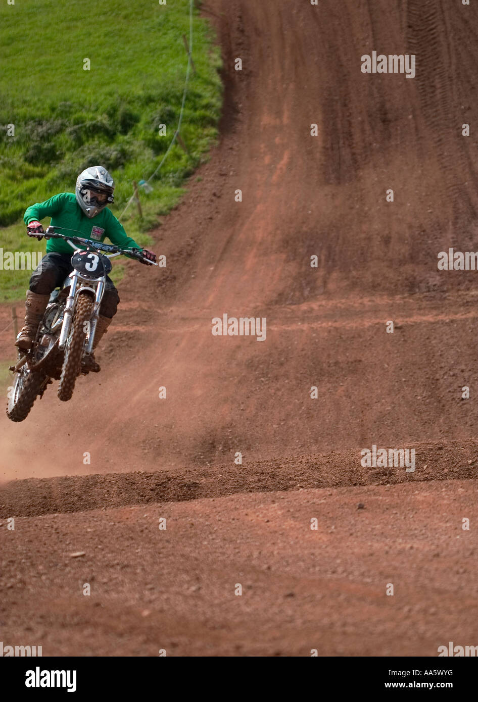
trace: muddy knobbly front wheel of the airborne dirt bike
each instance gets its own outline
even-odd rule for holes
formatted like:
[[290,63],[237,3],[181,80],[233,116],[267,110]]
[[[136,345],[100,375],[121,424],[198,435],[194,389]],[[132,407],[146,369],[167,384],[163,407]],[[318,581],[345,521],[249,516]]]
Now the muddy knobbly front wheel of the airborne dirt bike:
[[67,402],[72,398],[74,384],[81,372],[81,359],[85,350],[86,323],[89,324],[92,313],[93,299],[88,294],[80,294],[74,311],[73,329],[67,341],[65,360],[58,385],[58,399],[62,402]]

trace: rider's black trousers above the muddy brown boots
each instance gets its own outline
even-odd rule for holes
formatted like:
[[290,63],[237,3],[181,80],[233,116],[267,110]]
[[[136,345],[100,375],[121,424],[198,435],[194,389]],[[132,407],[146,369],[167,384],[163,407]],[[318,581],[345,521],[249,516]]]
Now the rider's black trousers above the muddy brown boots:
[[[65,278],[72,272],[72,253],[50,251],[44,256],[30,278],[30,290],[37,295],[50,295],[55,288],[62,286]],[[114,317],[117,313],[119,295],[114,282],[107,276],[105,294],[101,300],[100,314]]]

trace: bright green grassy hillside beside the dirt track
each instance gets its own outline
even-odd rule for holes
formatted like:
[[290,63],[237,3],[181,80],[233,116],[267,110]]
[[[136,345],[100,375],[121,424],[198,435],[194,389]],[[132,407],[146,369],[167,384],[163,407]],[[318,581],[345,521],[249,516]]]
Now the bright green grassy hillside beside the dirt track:
[[[144,246],[218,133],[220,53],[196,10],[193,22],[196,73],[181,128],[188,153],[175,145],[153,192],[140,189],[142,219],[135,204],[121,219]],[[39,251],[45,242],[28,239],[22,222],[29,204],[74,192],[78,173],[102,164],[117,183],[112,211],[119,216],[133,180],[149,178],[164,156],[180,114],[189,0],[22,0],[0,5],[0,27],[0,249]],[[0,270],[0,301],[22,297],[28,278]]]

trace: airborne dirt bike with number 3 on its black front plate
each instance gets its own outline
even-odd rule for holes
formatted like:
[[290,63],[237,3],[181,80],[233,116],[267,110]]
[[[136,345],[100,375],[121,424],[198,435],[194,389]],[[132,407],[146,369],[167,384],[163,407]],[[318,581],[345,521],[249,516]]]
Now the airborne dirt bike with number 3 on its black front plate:
[[[112,270],[109,259],[125,254],[157,265],[142,255],[142,249],[121,249],[113,244],[62,234],[60,229],[76,231],[48,227],[44,236],[67,241],[74,250],[73,270],[62,288],[51,293],[32,347],[27,352],[19,350],[17,363],[10,366],[16,375],[13,387],[8,389],[6,413],[13,422],[27,418],[36,397],[43,397],[53,379],[60,381],[58,398],[67,402],[72,398],[78,376],[88,373],[82,371],[82,366],[93,350],[106,277]],[[86,249],[79,249],[79,244]]]

